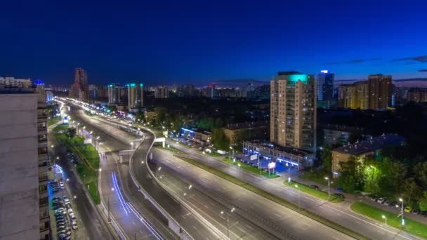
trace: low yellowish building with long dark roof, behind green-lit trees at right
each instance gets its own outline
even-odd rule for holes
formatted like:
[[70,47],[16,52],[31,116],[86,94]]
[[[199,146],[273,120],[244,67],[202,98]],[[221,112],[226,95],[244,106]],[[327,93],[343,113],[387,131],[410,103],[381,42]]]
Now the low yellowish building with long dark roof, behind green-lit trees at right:
[[404,138],[399,135],[387,134],[376,138],[355,142],[332,150],[332,173],[339,175],[340,163],[354,157],[356,161],[363,161],[367,156],[378,156],[386,147],[403,145]]

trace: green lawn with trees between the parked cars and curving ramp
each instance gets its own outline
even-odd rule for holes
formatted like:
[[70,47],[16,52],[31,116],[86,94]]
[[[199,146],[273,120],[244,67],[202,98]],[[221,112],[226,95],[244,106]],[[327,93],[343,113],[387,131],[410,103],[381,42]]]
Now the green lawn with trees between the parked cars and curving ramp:
[[70,139],[67,134],[59,133],[55,134],[55,138],[65,145],[69,152],[73,152],[82,160],[76,166],[79,178],[88,189],[93,201],[100,204],[98,192],[99,156],[96,149],[92,145],[85,145],[83,138],[79,136]]

